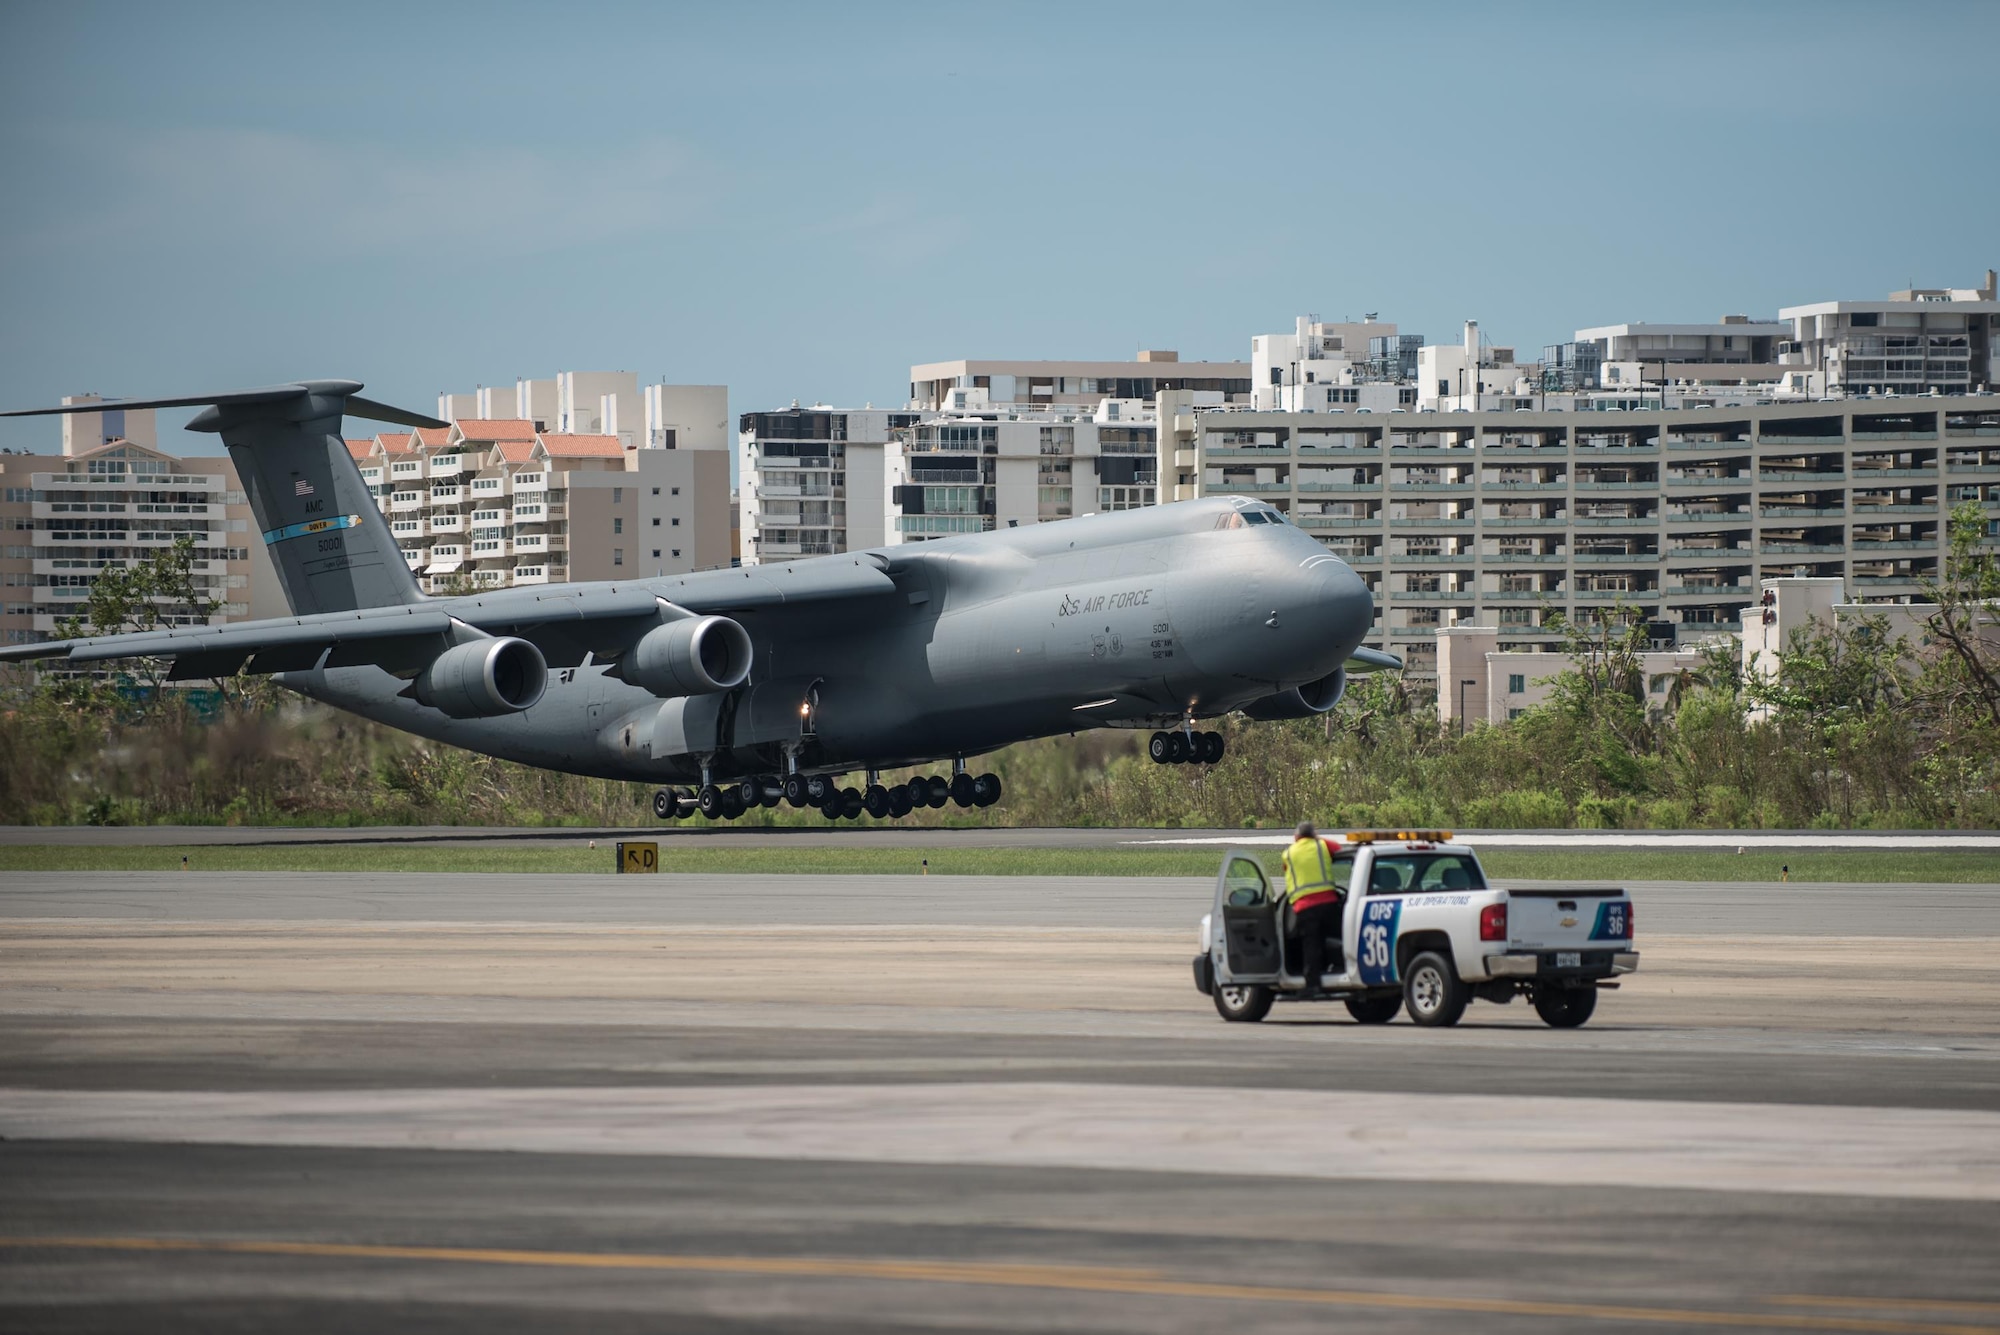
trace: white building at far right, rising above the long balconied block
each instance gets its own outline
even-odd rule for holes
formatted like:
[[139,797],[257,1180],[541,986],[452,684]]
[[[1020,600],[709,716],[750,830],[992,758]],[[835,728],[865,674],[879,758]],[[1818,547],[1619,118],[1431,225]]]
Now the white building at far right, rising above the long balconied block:
[[1794,390],[1826,394],[1968,394],[2000,386],[2000,292],[1912,288],[1884,302],[1788,306],[1780,360]]

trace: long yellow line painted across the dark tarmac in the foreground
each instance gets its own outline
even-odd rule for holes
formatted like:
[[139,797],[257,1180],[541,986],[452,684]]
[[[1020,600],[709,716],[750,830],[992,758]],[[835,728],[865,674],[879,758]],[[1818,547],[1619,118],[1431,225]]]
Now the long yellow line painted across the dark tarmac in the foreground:
[[[1010,1289],[1072,1293],[1128,1293],[1138,1297],[1200,1297],[1248,1303],[1306,1303],[1316,1307],[1376,1307],[1396,1311],[1450,1311],[1488,1317],[1554,1317],[1578,1321],[1662,1321],[1692,1327],[1758,1331],[1858,1331],[1862,1335],[2000,1335],[1992,1325],[1936,1325],[1886,1317],[1820,1313],[1702,1311],[1696,1307],[1622,1307],[1612,1303],[1540,1303],[1502,1297],[1432,1297],[1364,1289],[1288,1289],[1168,1279],[1160,1271],[1088,1265],[1008,1265],[992,1261],[866,1261],[842,1257],[704,1257],[604,1251],[518,1251],[492,1247],[384,1247],[366,1243],[256,1243],[200,1241],[186,1237],[0,1237],[12,1249],[76,1251],[200,1251],[264,1257],[340,1257],[368,1261],[454,1261],[474,1265],[550,1265],[564,1269],[694,1271],[710,1275],[788,1275],[820,1279],[900,1279],[910,1283],[966,1283]],[[1776,1299],[1822,1301],[1822,1299]],[[1850,1303],[1858,1299],[1824,1299]],[[1984,1305],[1982,1305],[1984,1307]]]

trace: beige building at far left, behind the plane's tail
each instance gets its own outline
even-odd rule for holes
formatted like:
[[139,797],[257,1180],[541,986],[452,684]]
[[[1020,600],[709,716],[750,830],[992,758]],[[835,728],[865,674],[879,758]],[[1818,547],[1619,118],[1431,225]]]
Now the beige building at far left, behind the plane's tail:
[[236,466],[156,442],[152,412],[108,410],[62,418],[60,456],[0,454],[0,644],[52,640],[98,572],[182,536],[194,538],[198,584],[222,602],[210,624],[286,614]]

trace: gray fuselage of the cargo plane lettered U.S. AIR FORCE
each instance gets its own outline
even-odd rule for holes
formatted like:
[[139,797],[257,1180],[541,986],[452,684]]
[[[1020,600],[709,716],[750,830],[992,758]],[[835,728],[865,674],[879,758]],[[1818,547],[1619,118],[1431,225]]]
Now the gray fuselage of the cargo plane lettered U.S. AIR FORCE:
[[[1246,524],[1252,512],[1262,522]],[[722,781],[890,769],[1100,725],[1214,717],[1340,671],[1374,616],[1344,562],[1234,498],[858,556],[892,592],[730,612],[756,662],[748,681],[716,695],[662,699],[586,660],[552,668],[530,709],[450,719],[380,668],[278,679],[530,765],[656,783],[706,769]],[[670,582],[622,588],[674,598]],[[436,606],[452,612],[452,600]]]

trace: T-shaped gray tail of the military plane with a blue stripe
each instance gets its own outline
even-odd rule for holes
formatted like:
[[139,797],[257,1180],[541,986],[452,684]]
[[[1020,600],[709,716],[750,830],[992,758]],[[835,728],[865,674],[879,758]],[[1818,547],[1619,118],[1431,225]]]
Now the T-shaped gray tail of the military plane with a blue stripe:
[[0,416],[206,404],[208,412],[196,414],[188,430],[222,436],[278,570],[284,598],[296,616],[308,616],[414,604],[424,598],[388,520],[348,454],[340,420],[356,416],[400,426],[444,424],[358,398],[360,388],[356,380],[304,380],[264,390],[106,400]]

